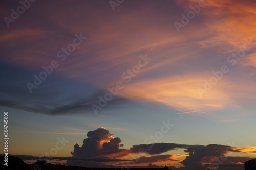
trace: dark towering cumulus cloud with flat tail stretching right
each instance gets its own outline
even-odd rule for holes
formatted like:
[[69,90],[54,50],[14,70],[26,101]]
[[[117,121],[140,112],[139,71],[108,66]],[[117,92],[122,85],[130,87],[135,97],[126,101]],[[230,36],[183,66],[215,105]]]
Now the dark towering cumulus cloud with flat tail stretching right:
[[74,151],[71,152],[73,157],[101,157],[112,156],[123,157],[128,154],[138,154],[145,152],[150,155],[161,154],[170,150],[178,148],[187,148],[193,145],[176,144],[176,143],[154,143],[154,144],[139,144],[133,145],[130,150],[119,149],[122,147],[121,139],[112,137],[110,131],[104,128],[89,131],[86,139],[83,140],[83,145],[80,147],[78,144],[74,145]]

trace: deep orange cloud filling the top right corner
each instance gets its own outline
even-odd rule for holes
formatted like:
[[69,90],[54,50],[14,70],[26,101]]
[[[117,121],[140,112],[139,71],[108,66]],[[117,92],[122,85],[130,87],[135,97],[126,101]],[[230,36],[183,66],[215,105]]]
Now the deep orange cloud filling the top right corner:
[[[197,0],[177,1],[185,11],[189,9],[189,5],[197,5]],[[230,53],[242,48],[245,39],[256,40],[256,6],[253,1],[205,1],[207,6],[201,8],[198,17],[202,17],[205,25],[211,32],[216,35],[198,43],[202,47],[218,46],[220,52]],[[190,24],[190,23],[189,23]],[[226,43],[226,45],[224,45]],[[227,46],[230,45],[230,46]],[[222,49],[225,48],[225,49]],[[253,52],[252,50],[250,53]],[[254,56],[251,54],[252,56]],[[252,57],[246,57],[246,63],[256,66],[255,60]],[[252,62],[251,62],[252,61]],[[247,64],[248,65],[248,64]]]

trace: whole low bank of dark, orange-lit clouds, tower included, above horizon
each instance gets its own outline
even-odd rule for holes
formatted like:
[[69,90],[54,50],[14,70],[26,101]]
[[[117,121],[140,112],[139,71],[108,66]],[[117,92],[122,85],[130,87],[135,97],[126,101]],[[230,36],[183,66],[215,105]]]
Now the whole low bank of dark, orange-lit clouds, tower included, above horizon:
[[[191,144],[177,144],[177,143],[152,143],[152,144],[138,144],[133,145],[130,149],[120,149],[123,145],[121,139],[113,137],[113,134],[105,128],[98,128],[89,131],[86,139],[83,140],[83,145],[74,145],[74,151],[71,152],[73,159],[78,159],[81,163],[84,158],[88,161],[95,162],[119,162],[119,166],[135,165],[146,166],[148,163],[160,162],[176,162],[181,165],[181,168],[186,170],[211,168],[218,163],[218,159],[223,159],[222,163],[218,163],[221,168],[239,168],[244,161],[250,159],[248,157],[228,157],[230,152],[246,152],[254,151],[250,148],[235,148],[229,145],[209,144],[209,145],[191,145]],[[186,154],[169,155],[163,154],[168,151],[184,149]],[[141,155],[146,154],[146,155]],[[161,155],[162,154],[162,155]],[[137,155],[136,159],[133,155]],[[148,155],[148,156],[147,156]],[[139,156],[139,157],[138,157]],[[176,159],[177,157],[186,156],[184,159]],[[121,159],[118,159],[121,158]],[[95,159],[95,160],[94,160]],[[99,159],[102,159],[100,161]],[[75,160],[72,160],[74,162]],[[71,163],[68,160],[67,163]],[[94,163],[93,163],[94,164]],[[153,164],[151,164],[153,165]],[[148,166],[151,166],[148,165]],[[157,165],[158,166],[158,165]]]

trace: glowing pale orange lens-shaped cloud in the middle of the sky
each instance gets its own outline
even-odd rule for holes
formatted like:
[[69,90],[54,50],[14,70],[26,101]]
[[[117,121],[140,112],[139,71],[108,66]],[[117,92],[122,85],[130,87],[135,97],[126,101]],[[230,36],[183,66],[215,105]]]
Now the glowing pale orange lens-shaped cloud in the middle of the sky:
[[[203,87],[204,77],[207,76],[183,75],[127,83],[118,94],[127,99],[145,99],[162,103],[184,113],[203,113],[209,109],[207,106],[218,108],[223,107],[227,101],[232,103],[232,99],[218,86],[209,90],[201,99],[197,88]],[[222,104],[219,103],[220,101]],[[208,102],[212,103],[201,104]]]

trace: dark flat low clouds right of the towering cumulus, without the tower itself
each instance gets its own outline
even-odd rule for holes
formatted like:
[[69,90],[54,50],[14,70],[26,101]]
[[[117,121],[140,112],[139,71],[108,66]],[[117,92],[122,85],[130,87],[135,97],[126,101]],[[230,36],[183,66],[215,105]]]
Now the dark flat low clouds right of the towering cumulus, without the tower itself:
[[[140,144],[133,145],[130,149],[132,153],[139,153],[139,151],[145,150],[144,152],[150,155],[161,154],[170,150],[175,149],[184,149],[184,152],[188,153],[189,156],[181,161],[181,164],[185,166],[187,170],[194,169],[206,169],[211,167],[211,164],[216,164],[222,168],[229,167],[241,167],[240,163],[243,163],[246,160],[249,160],[248,157],[225,157],[225,154],[228,152],[241,152],[234,150],[233,147],[228,145],[221,144],[209,144],[209,145],[187,145],[187,144],[176,144],[176,143],[154,143],[154,144]],[[156,155],[158,156],[158,155]],[[166,156],[166,155],[165,155]],[[157,158],[155,156],[152,157],[141,157],[147,160],[153,160]],[[163,159],[164,160],[164,159]],[[138,160],[139,161],[139,160]],[[205,165],[202,164],[205,163]],[[221,163],[220,163],[221,162]],[[136,163],[136,160],[135,160]],[[207,165],[208,164],[208,165]]]

